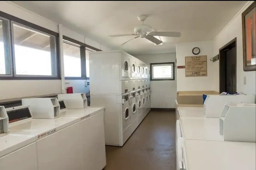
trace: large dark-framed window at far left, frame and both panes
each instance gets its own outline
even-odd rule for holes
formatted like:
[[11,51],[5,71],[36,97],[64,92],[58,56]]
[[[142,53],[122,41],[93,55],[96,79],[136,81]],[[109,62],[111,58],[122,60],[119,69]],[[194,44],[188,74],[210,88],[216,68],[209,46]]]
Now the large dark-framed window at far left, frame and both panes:
[[58,52],[58,33],[0,11],[0,79],[60,79]]

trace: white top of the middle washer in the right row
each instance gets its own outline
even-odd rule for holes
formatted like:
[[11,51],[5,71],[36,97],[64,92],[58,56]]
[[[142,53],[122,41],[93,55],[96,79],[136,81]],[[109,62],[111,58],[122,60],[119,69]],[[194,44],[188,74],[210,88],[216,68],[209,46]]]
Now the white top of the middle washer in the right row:
[[219,118],[180,118],[180,124],[185,139],[224,141]]

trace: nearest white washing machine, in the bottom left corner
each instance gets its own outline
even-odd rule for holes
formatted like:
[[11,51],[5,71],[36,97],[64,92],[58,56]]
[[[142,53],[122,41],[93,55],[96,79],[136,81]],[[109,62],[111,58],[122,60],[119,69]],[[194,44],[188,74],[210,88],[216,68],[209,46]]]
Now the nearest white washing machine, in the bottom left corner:
[[19,115],[12,114],[9,119],[4,106],[0,106],[0,169],[36,170],[36,136],[9,134],[9,120],[15,119]]

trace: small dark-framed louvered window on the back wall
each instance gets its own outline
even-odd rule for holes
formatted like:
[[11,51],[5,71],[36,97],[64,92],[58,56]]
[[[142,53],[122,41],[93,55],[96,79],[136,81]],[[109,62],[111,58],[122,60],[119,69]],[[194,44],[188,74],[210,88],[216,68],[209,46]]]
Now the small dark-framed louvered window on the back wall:
[[151,80],[174,80],[174,62],[153,63],[151,67]]

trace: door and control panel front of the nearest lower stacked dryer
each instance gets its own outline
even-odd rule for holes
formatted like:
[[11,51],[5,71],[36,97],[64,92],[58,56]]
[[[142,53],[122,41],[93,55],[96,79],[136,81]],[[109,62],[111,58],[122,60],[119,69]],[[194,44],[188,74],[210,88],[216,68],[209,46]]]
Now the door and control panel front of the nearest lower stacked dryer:
[[131,99],[128,93],[122,95],[122,125],[125,130],[131,123]]

